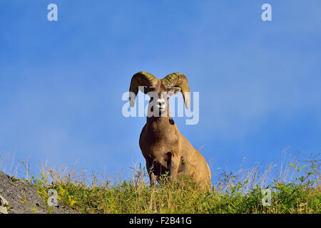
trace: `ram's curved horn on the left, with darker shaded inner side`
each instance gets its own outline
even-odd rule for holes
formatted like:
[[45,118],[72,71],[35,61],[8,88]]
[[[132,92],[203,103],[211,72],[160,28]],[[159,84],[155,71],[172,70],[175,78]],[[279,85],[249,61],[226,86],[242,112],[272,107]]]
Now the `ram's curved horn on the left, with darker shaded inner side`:
[[129,87],[129,101],[131,107],[135,105],[136,95],[138,93],[138,86],[154,86],[158,78],[153,76],[151,73],[144,71],[135,73],[131,78],[131,86]]

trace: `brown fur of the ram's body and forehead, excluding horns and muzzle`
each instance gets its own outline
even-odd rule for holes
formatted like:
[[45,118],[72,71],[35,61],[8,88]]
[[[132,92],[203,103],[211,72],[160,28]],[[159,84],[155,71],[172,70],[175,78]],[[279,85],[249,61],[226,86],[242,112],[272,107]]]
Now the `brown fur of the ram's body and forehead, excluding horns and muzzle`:
[[[153,92],[168,92],[163,81],[157,81]],[[166,116],[151,116],[141,131],[139,145],[146,159],[151,186],[159,182],[161,175],[169,174],[170,179],[188,176],[198,182],[203,190],[210,188],[210,169],[205,158],[178,131],[166,102]],[[152,101],[152,100],[151,100]],[[150,102],[151,105],[151,102]]]

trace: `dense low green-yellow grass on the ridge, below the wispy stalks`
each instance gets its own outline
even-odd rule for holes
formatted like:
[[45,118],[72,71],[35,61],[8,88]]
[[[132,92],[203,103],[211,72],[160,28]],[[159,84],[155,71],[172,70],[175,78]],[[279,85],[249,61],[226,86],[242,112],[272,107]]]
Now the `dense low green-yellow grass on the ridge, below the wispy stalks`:
[[236,185],[231,192],[200,193],[188,180],[150,189],[123,182],[115,187],[53,185],[60,199],[84,213],[320,213],[320,189],[307,185],[273,186],[271,206],[263,207],[260,187],[247,195]]

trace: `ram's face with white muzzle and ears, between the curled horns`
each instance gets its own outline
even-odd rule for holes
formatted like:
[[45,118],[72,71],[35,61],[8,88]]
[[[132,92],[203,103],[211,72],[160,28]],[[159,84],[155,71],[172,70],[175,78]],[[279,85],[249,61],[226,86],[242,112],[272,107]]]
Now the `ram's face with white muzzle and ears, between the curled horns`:
[[145,86],[143,92],[151,97],[149,101],[151,112],[154,113],[154,108],[156,108],[155,113],[160,114],[165,113],[168,107],[168,99],[171,95],[179,93],[180,88],[168,88],[165,84],[161,83],[161,81],[158,81],[155,86]]

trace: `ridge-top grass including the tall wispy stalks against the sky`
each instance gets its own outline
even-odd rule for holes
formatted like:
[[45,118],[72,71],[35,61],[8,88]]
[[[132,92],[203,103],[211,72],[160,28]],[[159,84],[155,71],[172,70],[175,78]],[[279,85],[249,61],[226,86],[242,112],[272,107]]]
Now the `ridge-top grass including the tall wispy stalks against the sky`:
[[[29,178],[46,202],[49,189],[58,200],[81,213],[320,213],[320,162],[317,156],[298,162],[285,158],[260,172],[257,164],[238,172],[218,169],[212,190],[202,192],[187,177],[149,187],[146,171],[134,168],[133,177],[111,182],[93,174],[44,165],[41,177]],[[90,183],[88,183],[90,180]],[[271,193],[263,206],[263,190]],[[266,198],[266,197],[265,197]]]

